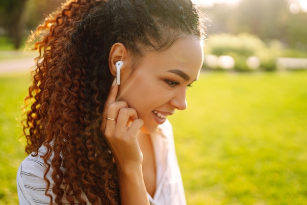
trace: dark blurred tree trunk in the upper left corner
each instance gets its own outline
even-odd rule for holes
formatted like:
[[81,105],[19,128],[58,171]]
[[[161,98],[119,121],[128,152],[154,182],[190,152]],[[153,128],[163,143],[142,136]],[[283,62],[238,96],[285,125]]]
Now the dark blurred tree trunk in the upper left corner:
[[22,40],[23,11],[27,0],[0,0],[0,25],[18,49]]

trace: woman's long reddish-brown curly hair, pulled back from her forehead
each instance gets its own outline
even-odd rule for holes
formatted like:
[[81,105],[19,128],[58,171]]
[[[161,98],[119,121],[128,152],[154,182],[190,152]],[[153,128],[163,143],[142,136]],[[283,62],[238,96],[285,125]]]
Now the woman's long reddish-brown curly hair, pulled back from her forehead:
[[26,153],[47,148],[50,204],[61,205],[65,197],[71,205],[84,205],[82,192],[93,205],[120,204],[116,163],[100,129],[114,79],[108,68],[112,45],[123,43],[132,56],[142,56],[184,36],[203,38],[203,28],[190,0],[67,1],[38,26],[39,56],[23,126]]

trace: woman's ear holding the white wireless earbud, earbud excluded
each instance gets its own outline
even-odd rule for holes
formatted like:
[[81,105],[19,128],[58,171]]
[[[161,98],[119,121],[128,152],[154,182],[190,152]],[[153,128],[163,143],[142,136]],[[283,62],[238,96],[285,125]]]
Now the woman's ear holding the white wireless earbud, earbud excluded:
[[[124,44],[122,43],[115,43],[113,44],[110,53],[109,53],[109,69],[112,74],[112,76],[116,76],[116,62],[117,61],[123,61],[124,65],[122,68],[127,66],[127,63],[125,63],[125,60],[127,61],[128,58],[128,51]],[[126,66],[125,66],[126,65]]]

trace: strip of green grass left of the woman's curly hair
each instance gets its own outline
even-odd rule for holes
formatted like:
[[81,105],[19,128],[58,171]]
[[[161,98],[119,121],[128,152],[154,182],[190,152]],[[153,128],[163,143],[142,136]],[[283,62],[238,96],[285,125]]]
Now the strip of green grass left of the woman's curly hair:
[[21,140],[21,104],[28,78],[24,74],[0,76],[0,205],[17,205],[16,172],[25,158]]

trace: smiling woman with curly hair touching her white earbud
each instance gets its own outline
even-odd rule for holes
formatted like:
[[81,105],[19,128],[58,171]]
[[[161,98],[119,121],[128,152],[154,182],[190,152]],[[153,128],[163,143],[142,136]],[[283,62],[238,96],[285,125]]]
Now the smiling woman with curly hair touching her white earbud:
[[45,20],[20,204],[185,205],[167,116],[203,62],[190,0],[77,0]]

